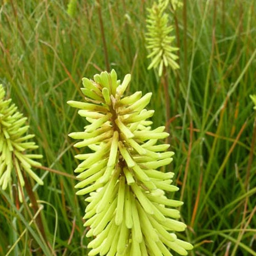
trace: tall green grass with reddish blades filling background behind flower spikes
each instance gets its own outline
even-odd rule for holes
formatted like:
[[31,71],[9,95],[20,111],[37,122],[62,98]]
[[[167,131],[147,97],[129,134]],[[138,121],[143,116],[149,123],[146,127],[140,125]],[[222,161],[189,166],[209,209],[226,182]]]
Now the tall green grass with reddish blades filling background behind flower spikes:
[[[72,18],[68,1],[4,2],[0,83],[29,118],[42,164],[73,175],[77,150],[68,134],[81,131],[85,122],[66,102],[81,99],[82,77],[106,69],[97,5],[78,1]],[[188,225],[182,238],[195,246],[191,255],[256,255],[255,111],[249,98],[256,92],[253,2],[187,0],[185,15],[182,8],[176,12],[181,68],[169,70],[168,77],[170,113],[178,115],[170,125],[176,153],[172,169],[181,187],[175,198],[184,201],[181,214]],[[146,8],[152,3],[101,1],[101,13],[111,68],[121,79],[132,73],[130,92],[153,92],[150,108],[159,126],[165,124],[163,86],[156,71],[147,71],[144,38]],[[75,195],[76,181],[36,172],[45,182],[34,190],[44,206],[51,247],[57,255],[87,255],[85,202]],[[14,199],[0,189],[0,255],[17,239],[11,255],[49,255],[31,222],[32,210],[13,203],[16,189]]]

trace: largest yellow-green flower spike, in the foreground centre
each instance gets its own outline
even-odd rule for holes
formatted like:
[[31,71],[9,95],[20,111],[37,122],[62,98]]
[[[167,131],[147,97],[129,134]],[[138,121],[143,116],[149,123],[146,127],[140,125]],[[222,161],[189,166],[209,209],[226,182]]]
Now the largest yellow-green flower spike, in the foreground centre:
[[146,120],[154,114],[145,109],[152,93],[123,97],[130,80],[127,74],[120,84],[114,70],[83,78],[87,102],[68,101],[90,123],[69,134],[81,139],[75,147],[91,149],[76,156],[82,162],[75,169],[77,195],[90,194],[84,226],[94,239],[88,255],[172,255],[167,248],[187,255],[193,246],[175,234],[186,228],[174,209],[183,202],[165,195],[179,190],[171,185],[174,173],[157,170],[173,160],[173,152],[164,152],[168,144],[157,145],[168,133],[164,126],[152,130]]

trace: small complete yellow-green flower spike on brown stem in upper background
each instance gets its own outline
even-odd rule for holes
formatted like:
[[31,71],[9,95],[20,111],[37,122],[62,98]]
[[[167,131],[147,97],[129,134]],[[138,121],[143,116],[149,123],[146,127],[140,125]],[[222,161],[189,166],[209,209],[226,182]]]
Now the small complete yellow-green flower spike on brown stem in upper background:
[[158,75],[161,76],[163,67],[171,67],[178,69],[176,62],[178,56],[173,52],[177,51],[177,47],[173,47],[172,43],[175,36],[170,36],[173,26],[168,26],[168,15],[164,13],[168,1],[159,1],[154,3],[152,8],[148,8],[148,16],[146,19],[146,48],[150,51],[147,55],[152,61],[147,69],[158,68]]

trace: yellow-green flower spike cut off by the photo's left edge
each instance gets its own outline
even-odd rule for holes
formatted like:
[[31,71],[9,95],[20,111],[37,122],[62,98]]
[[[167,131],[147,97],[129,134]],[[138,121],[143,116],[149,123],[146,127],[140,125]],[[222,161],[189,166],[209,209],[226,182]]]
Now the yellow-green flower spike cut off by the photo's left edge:
[[[31,176],[39,185],[44,182],[32,171],[32,166],[41,164],[33,159],[40,159],[42,155],[27,154],[38,146],[34,142],[27,142],[34,137],[32,134],[25,135],[29,129],[25,125],[27,118],[17,111],[11,99],[5,99],[5,90],[0,84],[0,186],[6,189],[12,181],[19,181],[23,188],[25,185],[23,172]],[[19,200],[22,195],[19,191]]]

